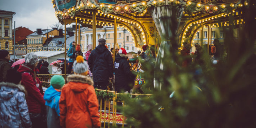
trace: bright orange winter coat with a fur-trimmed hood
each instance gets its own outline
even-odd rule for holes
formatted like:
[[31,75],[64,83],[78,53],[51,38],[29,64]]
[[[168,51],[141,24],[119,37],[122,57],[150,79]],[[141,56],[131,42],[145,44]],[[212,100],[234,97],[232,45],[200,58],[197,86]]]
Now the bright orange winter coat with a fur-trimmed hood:
[[[105,46],[104,46],[105,47]],[[60,95],[60,126],[66,128],[100,127],[98,100],[89,76],[69,75]]]

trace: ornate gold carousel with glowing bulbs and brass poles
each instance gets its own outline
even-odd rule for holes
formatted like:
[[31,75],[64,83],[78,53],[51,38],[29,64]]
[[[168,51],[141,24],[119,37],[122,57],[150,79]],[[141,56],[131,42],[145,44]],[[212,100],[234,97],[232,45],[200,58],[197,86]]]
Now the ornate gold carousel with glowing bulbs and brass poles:
[[[182,47],[184,42],[192,46],[196,36],[202,46],[204,28],[207,29],[209,52],[212,29],[241,26],[245,23],[242,8],[250,5],[247,0],[52,0],[52,3],[56,17],[65,25],[65,31],[66,25],[76,24],[75,36],[78,38],[75,41],[78,44],[80,25],[92,28],[93,48],[97,42],[96,28],[114,27],[113,44],[116,44],[117,28],[122,27],[132,34],[135,47],[142,48],[145,44],[155,46],[155,67],[160,70],[164,70],[161,59],[164,59],[169,47]],[[231,15],[233,22],[229,20]],[[200,38],[197,33],[200,33]],[[161,89],[159,81],[155,79],[154,86]],[[102,116],[105,117],[105,114]]]

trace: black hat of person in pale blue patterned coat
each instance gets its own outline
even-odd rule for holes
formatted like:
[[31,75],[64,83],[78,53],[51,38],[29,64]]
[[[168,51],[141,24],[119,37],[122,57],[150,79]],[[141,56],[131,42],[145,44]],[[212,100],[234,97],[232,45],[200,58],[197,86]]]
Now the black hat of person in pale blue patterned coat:
[[15,69],[9,69],[6,73],[7,82],[11,82],[14,84],[19,84],[21,81],[21,73],[16,71]]

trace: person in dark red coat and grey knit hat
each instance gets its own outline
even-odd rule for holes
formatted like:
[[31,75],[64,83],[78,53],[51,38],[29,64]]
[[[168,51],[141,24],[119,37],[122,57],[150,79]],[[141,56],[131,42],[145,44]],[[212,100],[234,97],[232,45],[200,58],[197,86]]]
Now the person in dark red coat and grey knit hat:
[[36,77],[35,68],[37,66],[37,55],[28,53],[25,56],[25,64],[20,65],[18,71],[22,74],[21,85],[27,91],[28,112],[33,128],[46,128],[46,118],[43,118],[46,110],[43,99],[43,89],[40,80]]

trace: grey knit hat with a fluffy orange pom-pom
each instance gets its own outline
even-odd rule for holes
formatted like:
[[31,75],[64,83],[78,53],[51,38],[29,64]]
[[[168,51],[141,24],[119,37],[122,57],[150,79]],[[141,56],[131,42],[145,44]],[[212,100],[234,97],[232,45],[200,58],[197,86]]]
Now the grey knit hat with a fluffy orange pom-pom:
[[73,64],[73,70],[77,74],[82,74],[88,71],[88,64],[84,61],[84,58],[82,58],[81,55],[78,55],[76,57],[76,61]]

